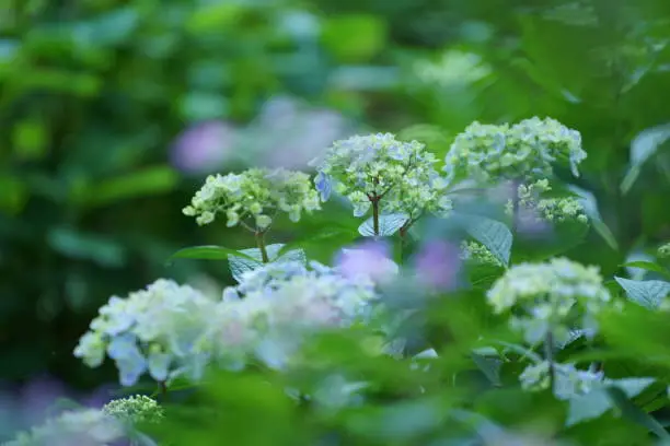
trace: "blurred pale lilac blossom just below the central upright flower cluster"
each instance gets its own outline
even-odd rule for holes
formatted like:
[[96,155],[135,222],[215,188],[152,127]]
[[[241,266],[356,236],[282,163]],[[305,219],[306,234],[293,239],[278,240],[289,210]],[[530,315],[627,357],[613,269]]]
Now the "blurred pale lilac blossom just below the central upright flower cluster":
[[335,259],[335,266],[347,278],[367,275],[376,282],[391,279],[398,271],[391,260],[391,248],[384,242],[363,242],[343,249]]

